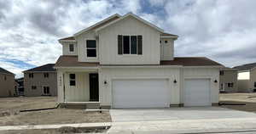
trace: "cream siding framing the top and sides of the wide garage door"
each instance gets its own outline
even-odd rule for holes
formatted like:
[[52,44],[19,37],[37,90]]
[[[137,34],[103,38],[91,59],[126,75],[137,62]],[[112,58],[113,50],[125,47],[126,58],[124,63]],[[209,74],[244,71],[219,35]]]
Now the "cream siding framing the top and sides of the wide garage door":
[[[180,79],[180,68],[102,68],[100,71],[100,102],[102,105],[112,105],[113,80],[116,79],[167,79],[169,90],[171,92],[170,104],[178,104],[180,101],[179,81],[176,84],[174,80]],[[107,84],[104,84],[107,81]]]

